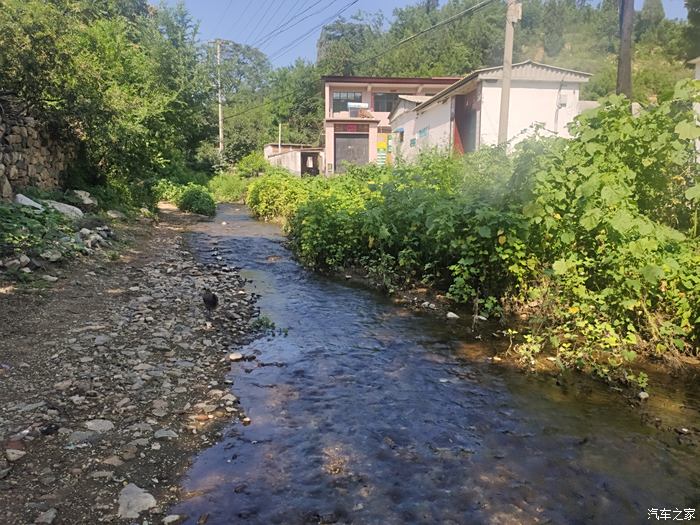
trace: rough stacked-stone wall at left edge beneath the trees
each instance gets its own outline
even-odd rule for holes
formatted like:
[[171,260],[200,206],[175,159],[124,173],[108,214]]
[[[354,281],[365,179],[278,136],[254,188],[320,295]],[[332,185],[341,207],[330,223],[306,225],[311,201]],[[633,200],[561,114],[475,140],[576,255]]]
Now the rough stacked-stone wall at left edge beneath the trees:
[[26,186],[58,187],[74,152],[33,117],[0,113],[0,199],[12,199]]

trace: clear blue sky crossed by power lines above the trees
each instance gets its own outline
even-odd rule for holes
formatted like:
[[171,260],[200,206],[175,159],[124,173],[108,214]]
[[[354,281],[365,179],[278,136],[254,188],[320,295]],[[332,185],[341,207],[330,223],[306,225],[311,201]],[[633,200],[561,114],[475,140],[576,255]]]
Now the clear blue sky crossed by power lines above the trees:
[[[311,16],[306,20],[257,46],[271,56],[275,66],[284,66],[299,57],[314,60],[316,40],[321,31],[317,26],[333,20],[351,2],[353,0],[185,0],[185,5],[200,22],[202,40],[225,38],[247,44],[254,44],[271,33],[292,16],[291,13],[309,9],[304,16]],[[177,0],[167,0],[167,3],[173,5]],[[381,10],[391,17],[394,8],[416,3],[418,0],[354,0],[342,15],[352,15],[358,10]],[[636,8],[640,9],[642,3],[643,0],[635,0]],[[687,17],[683,0],[663,0],[663,4],[668,18]]]

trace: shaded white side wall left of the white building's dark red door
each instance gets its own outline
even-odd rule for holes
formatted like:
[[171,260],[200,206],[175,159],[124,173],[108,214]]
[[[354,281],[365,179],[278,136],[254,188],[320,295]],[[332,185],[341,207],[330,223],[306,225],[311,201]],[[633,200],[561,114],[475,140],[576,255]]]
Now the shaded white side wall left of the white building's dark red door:
[[[397,149],[398,156],[410,162],[415,160],[421,151],[448,149],[452,145],[451,113],[452,99],[447,99],[429,106],[421,113],[407,111],[394,119],[391,123],[392,130],[404,128],[404,141],[398,149],[394,139],[394,148]],[[421,133],[421,130],[424,130],[424,133]],[[411,139],[415,139],[414,146],[411,146]]]

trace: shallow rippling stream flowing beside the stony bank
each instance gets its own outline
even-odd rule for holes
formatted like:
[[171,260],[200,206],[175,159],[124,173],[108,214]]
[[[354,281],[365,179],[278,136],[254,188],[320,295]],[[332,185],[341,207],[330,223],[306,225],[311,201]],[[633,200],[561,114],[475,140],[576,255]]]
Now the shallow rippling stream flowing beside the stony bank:
[[[172,509],[187,523],[650,523],[700,507],[697,448],[619,394],[508,370],[459,323],[308,272],[283,242],[240,206],[192,237],[242,268],[277,334],[232,365],[251,423],[195,459]],[[692,432],[697,391],[668,395]]]

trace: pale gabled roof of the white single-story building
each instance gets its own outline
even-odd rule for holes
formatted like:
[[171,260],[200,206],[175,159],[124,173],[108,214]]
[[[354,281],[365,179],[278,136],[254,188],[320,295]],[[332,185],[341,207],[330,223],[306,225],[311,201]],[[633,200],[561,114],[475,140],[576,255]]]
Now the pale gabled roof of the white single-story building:
[[[583,71],[576,71],[574,69],[566,69],[563,67],[550,66],[547,64],[540,64],[533,60],[526,60],[525,62],[520,62],[518,64],[513,64],[513,72],[511,78],[513,80],[534,80],[539,82],[588,82],[588,79],[592,76],[591,73],[584,73]],[[416,111],[440,102],[448,98],[452,93],[457,91],[462,86],[468,84],[472,81],[479,80],[500,80],[503,78],[503,66],[487,67],[484,69],[477,69],[469,73],[466,77],[458,80],[451,86],[443,89],[440,93],[437,93],[430,100],[427,100],[416,107]]]

